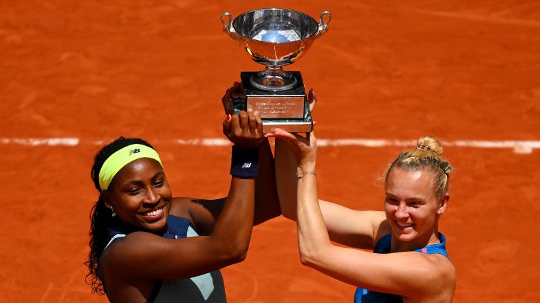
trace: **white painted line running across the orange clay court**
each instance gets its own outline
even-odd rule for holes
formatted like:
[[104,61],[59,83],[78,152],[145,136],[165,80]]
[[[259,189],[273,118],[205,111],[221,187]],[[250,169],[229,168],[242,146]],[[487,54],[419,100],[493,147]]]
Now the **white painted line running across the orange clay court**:
[[[153,143],[157,143],[154,140]],[[80,138],[0,138],[2,145],[26,145],[26,146],[68,146],[74,147],[80,143],[90,143],[93,145],[103,145],[104,140],[94,140],[84,142]],[[175,139],[171,143],[177,145],[195,146],[228,146],[231,143],[224,138],[198,138],[198,139]],[[416,140],[388,140],[388,139],[317,139],[319,147],[336,146],[359,146],[359,147],[411,147],[416,145]],[[531,154],[534,149],[540,149],[539,140],[453,140],[442,141],[444,147],[467,147],[478,149],[512,149],[516,154]]]

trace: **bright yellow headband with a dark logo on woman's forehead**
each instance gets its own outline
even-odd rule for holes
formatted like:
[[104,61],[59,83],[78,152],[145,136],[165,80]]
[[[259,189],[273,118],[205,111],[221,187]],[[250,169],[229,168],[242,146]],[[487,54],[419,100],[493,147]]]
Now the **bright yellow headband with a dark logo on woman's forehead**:
[[111,184],[112,178],[128,163],[140,159],[140,158],[152,158],[161,164],[161,159],[159,158],[157,152],[142,144],[132,144],[119,149],[118,151],[111,154],[103,166],[100,169],[100,187],[101,190],[107,190],[109,184]]

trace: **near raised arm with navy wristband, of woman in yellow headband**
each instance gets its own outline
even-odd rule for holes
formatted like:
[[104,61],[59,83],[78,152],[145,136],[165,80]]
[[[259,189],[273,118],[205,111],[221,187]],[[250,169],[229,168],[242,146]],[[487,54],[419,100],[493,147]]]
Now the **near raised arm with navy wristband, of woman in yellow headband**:
[[[258,154],[256,148],[263,139],[262,121],[253,113],[233,115],[228,138],[244,149],[246,160],[253,163],[253,153]],[[114,275],[116,279],[107,281],[180,279],[242,261],[253,226],[255,180],[251,173],[233,174],[231,189],[210,235],[165,239],[149,232],[133,232],[111,244],[102,264],[107,268],[105,278]],[[148,195],[147,199],[151,199],[151,192]]]

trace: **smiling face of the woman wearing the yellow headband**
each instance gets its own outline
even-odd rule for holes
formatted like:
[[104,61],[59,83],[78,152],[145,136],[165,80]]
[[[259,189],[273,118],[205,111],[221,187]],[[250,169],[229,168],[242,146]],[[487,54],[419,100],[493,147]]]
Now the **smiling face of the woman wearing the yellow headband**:
[[159,163],[139,158],[128,163],[114,176],[105,201],[125,225],[150,232],[167,226],[172,193]]

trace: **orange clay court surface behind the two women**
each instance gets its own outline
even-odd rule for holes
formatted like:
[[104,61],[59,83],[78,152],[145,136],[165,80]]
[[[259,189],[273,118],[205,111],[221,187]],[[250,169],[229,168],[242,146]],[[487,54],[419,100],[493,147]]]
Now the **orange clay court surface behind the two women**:
[[[440,226],[454,302],[540,302],[538,1],[0,2],[0,302],[107,301],[83,263],[92,157],[113,138],[150,141],[176,196],[226,194],[230,147],[204,139],[224,138],[222,94],[262,66],[219,17],[268,6],[332,12],[327,35],[286,68],[318,96],[321,198],[382,210],[377,176],[399,145],[437,136],[456,167]],[[301,266],[282,217],[223,273],[232,303],[354,293]]]

